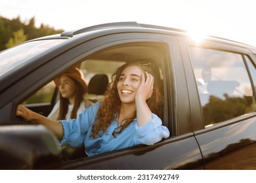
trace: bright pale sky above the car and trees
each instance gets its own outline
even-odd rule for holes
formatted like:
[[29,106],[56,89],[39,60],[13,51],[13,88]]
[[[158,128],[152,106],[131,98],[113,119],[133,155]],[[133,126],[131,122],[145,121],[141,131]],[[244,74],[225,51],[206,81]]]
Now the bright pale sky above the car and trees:
[[110,22],[185,29],[256,46],[255,0],[0,0],[0,16],[70,31]]

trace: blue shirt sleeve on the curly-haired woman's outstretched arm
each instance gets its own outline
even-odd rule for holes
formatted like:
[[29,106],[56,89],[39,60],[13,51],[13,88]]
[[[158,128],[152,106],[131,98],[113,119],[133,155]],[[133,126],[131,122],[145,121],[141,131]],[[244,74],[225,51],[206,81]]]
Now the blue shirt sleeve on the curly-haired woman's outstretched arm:
[[83,144],[85,135],[87,135],[91,124],[95,120],[99,105],[99,103],[91,105],[91,107],[80,113],[77,119],[60,120],[64,131],[60,146],[81,146]]

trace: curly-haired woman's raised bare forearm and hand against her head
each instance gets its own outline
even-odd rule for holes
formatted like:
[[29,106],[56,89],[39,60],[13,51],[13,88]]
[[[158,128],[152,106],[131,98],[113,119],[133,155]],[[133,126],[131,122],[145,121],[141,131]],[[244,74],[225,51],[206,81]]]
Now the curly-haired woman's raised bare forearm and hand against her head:
[[152,111],[148,107],[146,100],[153,93],[154,77],[147,72],[145,75],[146,79],[144,73],[142,73],[140,86],[135,95],[137,122],[139,126],[146,125],[152,119]]

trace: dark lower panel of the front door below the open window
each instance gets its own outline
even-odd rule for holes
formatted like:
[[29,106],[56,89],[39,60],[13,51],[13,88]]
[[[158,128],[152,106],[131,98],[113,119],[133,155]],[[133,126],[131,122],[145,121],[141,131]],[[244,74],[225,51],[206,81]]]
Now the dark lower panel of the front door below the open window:
[[152,146],[70,161],[64,169],[203,169],[203,161],[194,135],[189,133]]

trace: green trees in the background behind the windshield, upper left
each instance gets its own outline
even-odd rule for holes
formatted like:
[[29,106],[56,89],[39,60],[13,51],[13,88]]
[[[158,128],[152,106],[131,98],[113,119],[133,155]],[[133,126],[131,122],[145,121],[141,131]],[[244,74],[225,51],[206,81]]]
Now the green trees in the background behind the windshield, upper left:
[[39,28],[35,27],[35,18],[31,18],[28,24],[20,21],[20,17],[9,20],[0,16],[0,51],[20,42],[62,33],[64,30],[55,30],[53,27],[41,24]]

